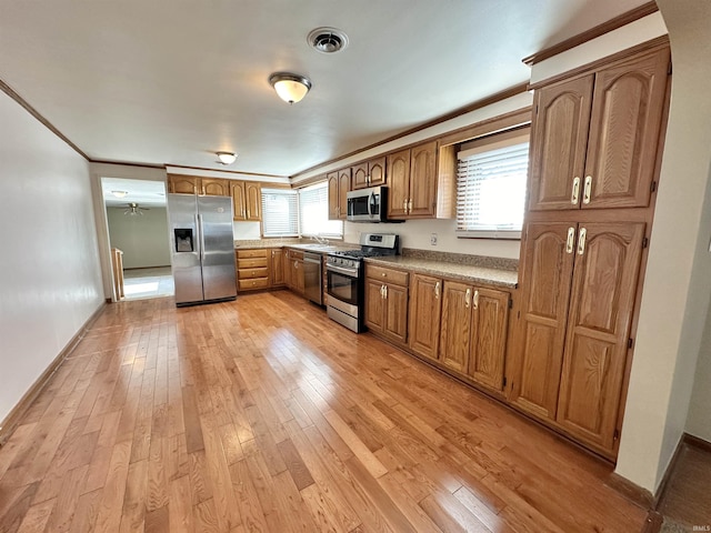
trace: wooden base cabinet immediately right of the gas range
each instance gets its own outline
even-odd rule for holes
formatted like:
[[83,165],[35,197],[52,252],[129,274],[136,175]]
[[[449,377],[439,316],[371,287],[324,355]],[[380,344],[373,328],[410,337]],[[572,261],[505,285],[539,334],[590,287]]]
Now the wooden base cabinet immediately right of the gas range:
[[365,264],[365,325],[404,344],[408,340],[409,273]]

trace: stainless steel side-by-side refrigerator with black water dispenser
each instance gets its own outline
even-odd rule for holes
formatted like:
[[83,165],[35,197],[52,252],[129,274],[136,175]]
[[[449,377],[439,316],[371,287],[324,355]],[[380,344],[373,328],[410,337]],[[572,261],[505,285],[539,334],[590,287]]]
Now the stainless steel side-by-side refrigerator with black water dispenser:
[[176,304],[234,300],[232,199],[168,194]]

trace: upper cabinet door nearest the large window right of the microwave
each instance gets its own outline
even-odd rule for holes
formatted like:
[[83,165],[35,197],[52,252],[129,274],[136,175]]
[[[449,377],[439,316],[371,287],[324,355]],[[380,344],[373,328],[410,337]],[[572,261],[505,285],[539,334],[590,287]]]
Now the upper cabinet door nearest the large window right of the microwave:
[[412,148],[408,217],[433,217],[437,207],[437,142]]

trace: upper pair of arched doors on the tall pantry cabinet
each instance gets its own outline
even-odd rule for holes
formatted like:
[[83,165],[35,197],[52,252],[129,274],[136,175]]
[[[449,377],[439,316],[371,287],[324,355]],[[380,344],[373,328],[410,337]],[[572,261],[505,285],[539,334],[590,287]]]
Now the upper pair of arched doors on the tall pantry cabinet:
[[531,211],[648,207],[670,52],[641,52],[535,91]]

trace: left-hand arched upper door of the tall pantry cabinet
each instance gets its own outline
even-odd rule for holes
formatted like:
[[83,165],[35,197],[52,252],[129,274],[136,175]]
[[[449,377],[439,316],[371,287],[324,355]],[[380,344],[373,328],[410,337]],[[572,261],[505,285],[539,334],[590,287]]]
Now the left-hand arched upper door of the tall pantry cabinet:
[[571,204],[573,179],[582,197],[593,76],[544,87],[535,92],[531,142],[531,211],[578,209]]

